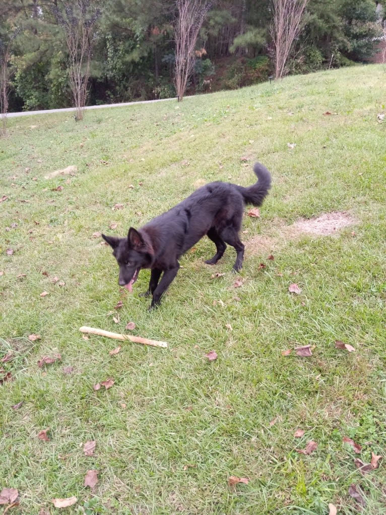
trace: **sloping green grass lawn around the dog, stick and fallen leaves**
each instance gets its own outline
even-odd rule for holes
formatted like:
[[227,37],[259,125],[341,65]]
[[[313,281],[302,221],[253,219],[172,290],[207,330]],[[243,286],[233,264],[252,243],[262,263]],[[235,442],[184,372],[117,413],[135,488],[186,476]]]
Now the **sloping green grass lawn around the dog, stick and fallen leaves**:
[[[0,488],[19,490],[13,515],[324,515],[328,503],[345,515],[386,513],[385,464],[365,476],[354,465],[386,448],[385,80],[381,66],[358,66],[181,104],[87,111],[79,123],[71,113],[9,119],[0,140],[0,359],[12,353],[2,367],[13,381],[0,385]],[[125,295],[93,233],[125,235],[200,182],[249,185],[254,160],[273,186],[261,218],[243,221],[243,285],[232,288],[233,249],[209,267],[214,248],[203,239],[158,310],[138,296],[147,271]],[[78,167],[69,183],[44,179],[68,165]],[[286,231],[337,210],[355,225],[335,236]],[[292,282],[300,295],[288,292]],[[79,333],[125,332],[129,321],[133,334],[169,348],[123,344],[110,356],[118,342]],[[32,333],[41,339],[30,342]],[[336,339],[356,352],[335,349]],[[311,357],[281,354],[307,344]],[[219,357],[209,363],[212,349]],[[58,352],[62,362],[38,367]],[[109,377],[112,388],[93,390]],[[37,437],[47,427],[49,442]],[[95,455],[84,456],[94,439]],[[309,440],[315,452],[295,451]],[[99,471],[94,492],[83,486],[90,469]],[[250,482],[229,487],[230,475]],[[364,491],[362,509],[352,483]],[[50,503],[72,495],[67,510]]]

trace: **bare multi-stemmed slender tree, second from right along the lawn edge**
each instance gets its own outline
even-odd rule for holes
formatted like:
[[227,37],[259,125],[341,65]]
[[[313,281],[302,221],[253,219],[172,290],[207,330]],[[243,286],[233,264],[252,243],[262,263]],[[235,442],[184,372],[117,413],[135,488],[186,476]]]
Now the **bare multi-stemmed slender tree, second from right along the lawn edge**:
[[180,102],[196,62],[195,46],[209,9],[207,0],[176,0],[178,18],[174,26],[176,60],[174,83]]

